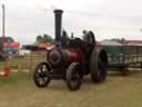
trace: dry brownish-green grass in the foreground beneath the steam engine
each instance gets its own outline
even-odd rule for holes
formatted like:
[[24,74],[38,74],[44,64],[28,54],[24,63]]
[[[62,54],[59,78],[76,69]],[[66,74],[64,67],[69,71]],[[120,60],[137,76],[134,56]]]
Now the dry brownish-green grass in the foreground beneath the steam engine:
[[78,91],[64,81],[52,80],[43,89],[32,81],[32,72],[11,72],[0,77],[0,107],[142,107],[142,71],[128,77],[109,74],[103,84],[85,77]]

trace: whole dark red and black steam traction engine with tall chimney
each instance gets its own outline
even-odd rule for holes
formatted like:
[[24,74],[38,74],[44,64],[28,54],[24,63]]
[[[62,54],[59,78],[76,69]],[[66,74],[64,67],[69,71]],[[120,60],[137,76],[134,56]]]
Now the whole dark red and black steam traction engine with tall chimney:
[[81,86],[84,75],[92,81],[106,79],[106,52],[95,46],[92,31],[85,31],[83,39],[61,36],[62,10],[54,10],[55,45],[48,49],[47,61],[40,62],[33,71],[33,80],[38,87],[45,87],[51,79],[63,79],[71,90]]

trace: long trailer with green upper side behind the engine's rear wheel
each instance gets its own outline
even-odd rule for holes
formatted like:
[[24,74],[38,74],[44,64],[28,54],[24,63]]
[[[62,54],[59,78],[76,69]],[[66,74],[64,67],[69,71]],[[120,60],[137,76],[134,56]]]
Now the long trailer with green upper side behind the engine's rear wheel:
[[142,69],[142,46],[101,46],[108,52],[108,71],[122,71],[126,76],[130,68]]

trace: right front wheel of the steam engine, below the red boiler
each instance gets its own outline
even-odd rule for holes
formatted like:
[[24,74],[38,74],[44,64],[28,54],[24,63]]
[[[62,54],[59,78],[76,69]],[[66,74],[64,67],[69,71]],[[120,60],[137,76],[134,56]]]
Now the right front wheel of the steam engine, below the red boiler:
[[79,62],[72,62],[67,69],[67,86],[71,90],[77,90],[81,86],[81,66]]

